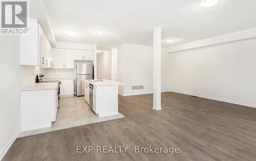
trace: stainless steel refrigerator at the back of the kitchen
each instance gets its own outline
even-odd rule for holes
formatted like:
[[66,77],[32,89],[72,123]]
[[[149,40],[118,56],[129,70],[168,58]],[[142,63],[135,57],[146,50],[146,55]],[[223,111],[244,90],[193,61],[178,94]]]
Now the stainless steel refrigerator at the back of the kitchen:
[[84,95],[84,80],[93,79],[92,64],[77,64],[76,65],[76,95]]

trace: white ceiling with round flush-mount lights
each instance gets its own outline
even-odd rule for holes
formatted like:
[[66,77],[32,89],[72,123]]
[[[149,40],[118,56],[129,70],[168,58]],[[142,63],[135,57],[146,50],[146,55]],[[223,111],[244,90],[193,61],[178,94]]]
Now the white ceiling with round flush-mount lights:
[[[97,43],[108,49],[121,43],[153,45],[153,29],[172,45],[256,26],[255,0],[220,0],[201,8],[201,0],[46,0],[56,41]],[[78,33],[67,36],[65,30]],[[94,31],[103,30],[103,36]],[[170,44],[163,43],[164,47]]]

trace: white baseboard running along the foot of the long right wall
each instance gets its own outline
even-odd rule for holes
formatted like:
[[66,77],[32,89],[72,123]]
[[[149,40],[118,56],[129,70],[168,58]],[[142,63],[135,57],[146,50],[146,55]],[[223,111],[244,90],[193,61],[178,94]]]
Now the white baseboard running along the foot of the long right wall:
[[209,97],[209,96],[201,96],[201,95],[197,95],[197,94],[190,94],[190,93],[184,93],[184,92],[173,91],[173,90],[170,90],[169,92],[181,93],[181,94],[185,94],[185,95],[197,96],[197,97],[206,98],[206,99],[212,99],[212,100],[217,100],[217,101],[222,101],[222,102],[227,102],[227,103],[244,105],[244,106],[248,106],[250,108],[256,108],[255,104],[250,104],[250,103],[245,103],[245,102],[239,102],[239,101],[227,100],[227,99],[215,98],[215,97]]

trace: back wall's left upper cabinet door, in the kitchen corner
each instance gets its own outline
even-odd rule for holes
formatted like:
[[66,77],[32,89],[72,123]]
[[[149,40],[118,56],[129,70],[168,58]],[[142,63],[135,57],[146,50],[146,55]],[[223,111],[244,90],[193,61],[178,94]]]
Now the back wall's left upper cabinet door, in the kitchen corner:
[[65,49],[54,49],[53,53],[53,68],[64,68]]

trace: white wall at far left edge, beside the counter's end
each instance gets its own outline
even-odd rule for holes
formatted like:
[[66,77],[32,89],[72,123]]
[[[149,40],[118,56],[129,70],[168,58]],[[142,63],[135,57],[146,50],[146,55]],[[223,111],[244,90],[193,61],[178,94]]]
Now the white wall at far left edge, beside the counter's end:
[[[0,36],[0,160],[20,131],[20,65],[17,36]],[[14,140],[13,140],[14,139]],[[10,143],[8,145],[8,143]]]

